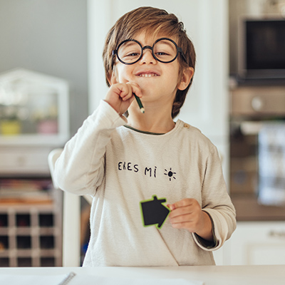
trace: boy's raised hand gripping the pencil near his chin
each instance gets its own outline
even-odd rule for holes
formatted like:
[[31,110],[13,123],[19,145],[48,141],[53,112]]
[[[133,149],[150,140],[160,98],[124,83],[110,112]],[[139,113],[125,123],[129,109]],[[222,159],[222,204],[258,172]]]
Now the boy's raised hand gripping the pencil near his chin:
[[105,101],[111,105],[119,115],[123,115],[135,98],[133,93],[140,98],[142,97],[142,91],[137,83],[115,83],[110,86]]

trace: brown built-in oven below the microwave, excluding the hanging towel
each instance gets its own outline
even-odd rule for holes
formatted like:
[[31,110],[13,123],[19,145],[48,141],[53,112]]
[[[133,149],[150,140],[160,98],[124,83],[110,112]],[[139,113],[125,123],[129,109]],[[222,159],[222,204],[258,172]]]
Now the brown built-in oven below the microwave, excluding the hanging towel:
[[[269,122],[283,125],[282,128],[285,126],[285,86],[239,86],[231,90],[230,192],[232,196],[259,196],[262,188],[261,180],[264,181],[264,172],[261,173],[260,170],[269,169],[269,165],[265,167],[261,165],[260,132]],[[271,161],[271,157],[267,157],[266,161]]]

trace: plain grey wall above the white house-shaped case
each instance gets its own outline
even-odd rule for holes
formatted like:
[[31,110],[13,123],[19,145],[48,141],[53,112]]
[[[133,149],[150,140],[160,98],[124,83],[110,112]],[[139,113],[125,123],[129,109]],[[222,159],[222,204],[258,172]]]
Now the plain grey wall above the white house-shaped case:
[[28,68],[71,85],[71,135],[88,115],[86,0],[0,0],[0,73]]

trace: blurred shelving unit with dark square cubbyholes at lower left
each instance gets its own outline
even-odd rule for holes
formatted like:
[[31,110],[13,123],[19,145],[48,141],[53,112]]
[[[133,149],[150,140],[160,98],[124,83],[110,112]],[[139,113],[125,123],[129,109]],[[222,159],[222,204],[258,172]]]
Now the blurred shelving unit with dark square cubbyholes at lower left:
[[61,266],[61,192],[46,202],[0,201],[0,267]]

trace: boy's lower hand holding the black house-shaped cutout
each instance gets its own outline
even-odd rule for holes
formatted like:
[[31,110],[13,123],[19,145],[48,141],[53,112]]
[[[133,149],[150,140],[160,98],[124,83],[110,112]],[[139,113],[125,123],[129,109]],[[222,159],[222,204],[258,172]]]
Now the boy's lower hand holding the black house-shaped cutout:
[[169,217],[172,227],[195,232],[203,239],[213,239],[212,222],[196,199],[182,199],[167,207],[171,210]]

